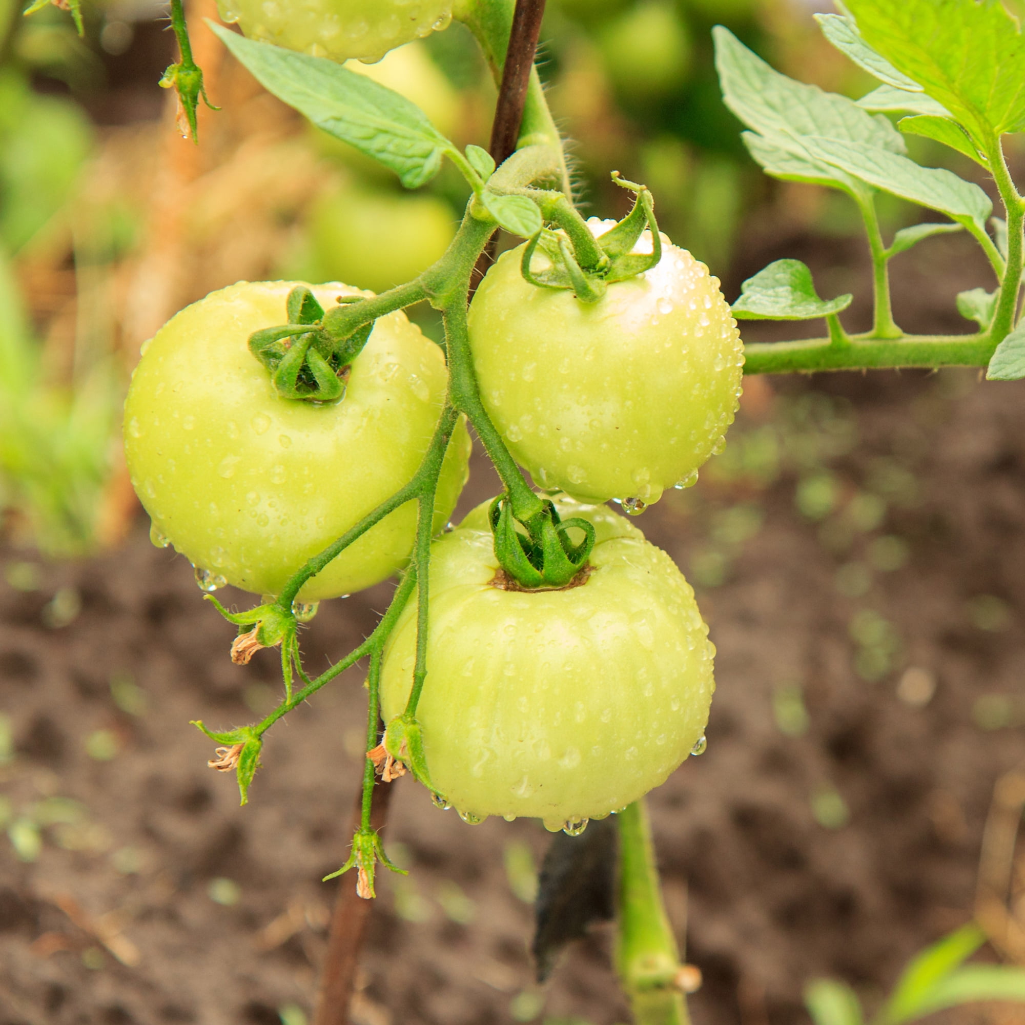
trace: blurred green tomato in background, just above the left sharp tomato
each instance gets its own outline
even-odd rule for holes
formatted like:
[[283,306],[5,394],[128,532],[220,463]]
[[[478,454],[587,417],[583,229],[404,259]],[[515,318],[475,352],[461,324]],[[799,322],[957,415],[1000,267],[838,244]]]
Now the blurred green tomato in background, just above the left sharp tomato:
[[322,196],[306,216],[312,266],[327,281],[383,292],[445,254],[456,221],[435,196],[348,190]]

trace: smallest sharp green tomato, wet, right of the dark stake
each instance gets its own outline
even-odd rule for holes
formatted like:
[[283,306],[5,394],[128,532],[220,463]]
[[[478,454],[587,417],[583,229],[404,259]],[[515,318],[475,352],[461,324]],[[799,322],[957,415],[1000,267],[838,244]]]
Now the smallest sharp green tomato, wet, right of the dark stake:
[[[596,234],[611,223],[588,221]],[[523,246],[499,257],[474,296],[469,340],[484,404],[542,487],[651,503],[693,484],[725,444],[740,395],[740,335],[719,280],[664,242],[655,268],[594,303],[528,284]]]

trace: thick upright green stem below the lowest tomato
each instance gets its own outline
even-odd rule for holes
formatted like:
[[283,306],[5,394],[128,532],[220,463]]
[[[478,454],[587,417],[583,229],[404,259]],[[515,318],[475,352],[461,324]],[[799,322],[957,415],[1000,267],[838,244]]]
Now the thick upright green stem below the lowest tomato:
[[644,797],[616,816],[619,828],[619,933],[616,967],[639,1025],[687,1025],[675,986],[680,952],[662,902]]

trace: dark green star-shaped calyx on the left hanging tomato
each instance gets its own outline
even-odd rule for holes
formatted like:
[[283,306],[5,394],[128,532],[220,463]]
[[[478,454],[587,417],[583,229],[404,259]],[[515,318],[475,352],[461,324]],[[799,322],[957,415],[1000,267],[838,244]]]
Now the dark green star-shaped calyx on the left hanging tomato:
[[[359,301],[358,295],[338,297],[339,304]],[[283,399],[338,402],[345,394],[348,368],[367,343],[373,322],[346,338],[333,337],[324,329],[324,308],[302,285],[288,293],[287,310],[287,324],[249,336],[249,352],[270,371]]]

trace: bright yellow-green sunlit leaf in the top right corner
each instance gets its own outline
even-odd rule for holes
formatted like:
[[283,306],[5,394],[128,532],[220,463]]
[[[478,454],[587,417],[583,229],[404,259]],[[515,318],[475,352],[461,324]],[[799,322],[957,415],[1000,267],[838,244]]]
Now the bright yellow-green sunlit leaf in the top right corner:
[[865,41],[977,138],[1025,129],[1025,36],[1000,0],[848,0]]

